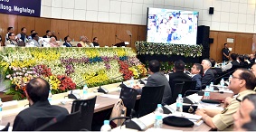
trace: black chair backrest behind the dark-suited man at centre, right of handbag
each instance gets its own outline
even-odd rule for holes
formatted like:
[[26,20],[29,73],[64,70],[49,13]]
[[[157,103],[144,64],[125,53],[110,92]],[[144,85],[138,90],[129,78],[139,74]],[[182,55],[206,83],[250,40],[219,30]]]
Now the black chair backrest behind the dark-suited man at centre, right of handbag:
[[157,104],[162,103],[165,86],[144,87],[139,101],[137,118],[156,110]]

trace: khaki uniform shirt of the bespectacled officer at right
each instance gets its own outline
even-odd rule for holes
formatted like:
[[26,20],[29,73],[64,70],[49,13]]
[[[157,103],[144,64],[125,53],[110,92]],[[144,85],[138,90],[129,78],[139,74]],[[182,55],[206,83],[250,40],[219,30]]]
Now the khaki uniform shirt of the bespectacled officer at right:
[[218,130],[229,131],[233,129],[233,118],[232,115],[238,110],[240,102],[243,97],[255,94],[253,90],[243,90],[235,98],[233,97],[231,103],[227,108],[224,108],[221,114],[217,114],[213,117],[213,124],[217,127]]

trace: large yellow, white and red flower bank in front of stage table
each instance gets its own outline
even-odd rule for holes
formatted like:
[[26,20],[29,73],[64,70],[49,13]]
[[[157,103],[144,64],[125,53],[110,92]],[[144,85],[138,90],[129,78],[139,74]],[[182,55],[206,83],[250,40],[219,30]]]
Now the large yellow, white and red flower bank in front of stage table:
[[[25,99],[29,80],[49,81],[52,94],[145,77],[147,69],[131,48],[2,48],[0,71],[11,83],[6,94]],[[124,77],[111,80],[125,74]]]

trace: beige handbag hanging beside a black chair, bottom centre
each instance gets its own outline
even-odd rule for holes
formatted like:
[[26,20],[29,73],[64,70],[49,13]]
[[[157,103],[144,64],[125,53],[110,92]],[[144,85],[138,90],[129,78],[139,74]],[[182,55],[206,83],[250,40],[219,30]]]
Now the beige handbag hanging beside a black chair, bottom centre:
[[[110,118],[117,118],[117,117],[126,117],[127,108],[125,107],[123,100],[119,99],[118,102],[115,104],[114,108],[112,109],[112,113]],[[115,123],[116,127],[120,126],[125,119],[115,119],[113,123]]]

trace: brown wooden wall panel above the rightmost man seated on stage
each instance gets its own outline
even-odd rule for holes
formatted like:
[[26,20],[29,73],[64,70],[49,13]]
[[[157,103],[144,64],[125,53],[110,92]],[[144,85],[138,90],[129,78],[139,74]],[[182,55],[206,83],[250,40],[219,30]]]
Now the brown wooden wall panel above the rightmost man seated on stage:
[[[98,37],[100,46],[112,46],[115,44],[116,24],[93,24],[92,38]],[[91,41],[92,41],[91,38]]]

